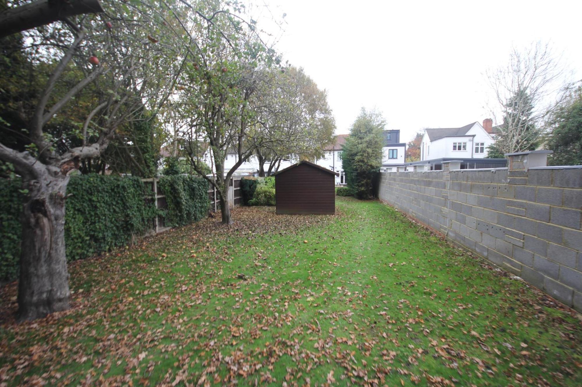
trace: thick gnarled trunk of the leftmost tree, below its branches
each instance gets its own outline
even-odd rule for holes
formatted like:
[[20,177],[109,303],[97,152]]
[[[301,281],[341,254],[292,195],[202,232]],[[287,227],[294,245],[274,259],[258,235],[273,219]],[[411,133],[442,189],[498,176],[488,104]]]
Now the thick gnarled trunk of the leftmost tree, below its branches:
[[65,194],[69,177],[43,174],[24,180],[19,320],[34,320],[69,308],[65,255]]

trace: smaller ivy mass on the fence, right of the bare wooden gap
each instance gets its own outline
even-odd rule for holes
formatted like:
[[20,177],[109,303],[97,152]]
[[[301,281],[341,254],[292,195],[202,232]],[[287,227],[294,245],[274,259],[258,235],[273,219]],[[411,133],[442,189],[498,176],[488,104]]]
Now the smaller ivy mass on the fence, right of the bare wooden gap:
[[208,182],[191,175],[164,176],[158,187],[166,196],[165,225],[180,226],[198,221],[208,214]]

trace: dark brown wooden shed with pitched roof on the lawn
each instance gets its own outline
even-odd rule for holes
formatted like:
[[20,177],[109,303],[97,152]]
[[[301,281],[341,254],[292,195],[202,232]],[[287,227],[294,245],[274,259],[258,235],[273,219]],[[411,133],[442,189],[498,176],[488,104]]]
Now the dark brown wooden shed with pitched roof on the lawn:
[[335,173],[307,161],[275,174],[278,214],[334,214]]

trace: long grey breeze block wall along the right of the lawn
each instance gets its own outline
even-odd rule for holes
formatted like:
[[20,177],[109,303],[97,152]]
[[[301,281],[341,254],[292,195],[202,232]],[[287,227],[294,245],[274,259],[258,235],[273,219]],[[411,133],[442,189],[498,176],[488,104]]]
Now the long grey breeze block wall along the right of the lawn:
[[582,169],[524,164],[382,173],[379,198],[582,311]]

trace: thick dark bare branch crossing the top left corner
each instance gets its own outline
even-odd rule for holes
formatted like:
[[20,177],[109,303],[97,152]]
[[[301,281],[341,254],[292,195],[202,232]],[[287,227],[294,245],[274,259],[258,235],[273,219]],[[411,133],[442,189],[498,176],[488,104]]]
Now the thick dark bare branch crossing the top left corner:
[[0,15],[0,38],[81,13],[103,12],[99,0],[37,0]]

